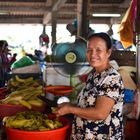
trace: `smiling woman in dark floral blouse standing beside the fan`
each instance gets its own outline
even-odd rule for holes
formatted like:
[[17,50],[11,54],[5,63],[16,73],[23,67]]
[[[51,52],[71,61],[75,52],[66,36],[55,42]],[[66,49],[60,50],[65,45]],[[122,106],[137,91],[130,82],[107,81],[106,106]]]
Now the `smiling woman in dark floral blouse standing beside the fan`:
[[123,83],[109,64],[111,40],[106,33],[92,34],[87,43],[87,60],[93,67],[77,105],[61,104],[57,116],[72,113],[73,140],[123,139]]

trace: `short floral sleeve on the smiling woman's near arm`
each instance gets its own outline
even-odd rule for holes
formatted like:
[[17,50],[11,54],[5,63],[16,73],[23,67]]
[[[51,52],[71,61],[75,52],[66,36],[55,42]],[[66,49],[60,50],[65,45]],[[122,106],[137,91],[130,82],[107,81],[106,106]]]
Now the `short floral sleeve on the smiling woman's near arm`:
[[106,76],[97,91],[99,96],[107,96],[115,101],[123,99],[123,83],[119,74]]

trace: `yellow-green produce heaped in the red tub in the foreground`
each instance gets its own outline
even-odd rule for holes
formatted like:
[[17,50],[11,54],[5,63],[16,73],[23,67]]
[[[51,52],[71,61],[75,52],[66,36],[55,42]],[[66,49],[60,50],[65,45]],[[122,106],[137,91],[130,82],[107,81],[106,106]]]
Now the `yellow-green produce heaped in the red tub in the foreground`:
[[63,127],[57,119],[49,119],[46,114],[35,111],[19,112],[14,116],[5,117],[3,123],[6,127],[26,131],[54,130]]

